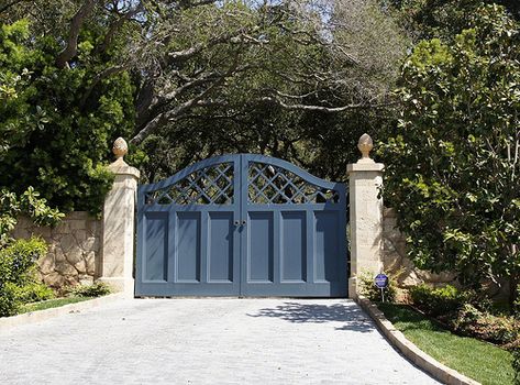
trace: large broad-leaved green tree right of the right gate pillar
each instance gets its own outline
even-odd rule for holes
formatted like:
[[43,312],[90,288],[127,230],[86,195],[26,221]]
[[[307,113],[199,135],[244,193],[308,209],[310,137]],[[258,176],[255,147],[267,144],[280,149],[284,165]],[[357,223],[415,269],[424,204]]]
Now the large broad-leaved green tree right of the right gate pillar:
[[381,144],[385,197],[422,268],[465,284],[520,273],[520,32],[479,8],[453,44],[421,42],[406,62],[399,131]]

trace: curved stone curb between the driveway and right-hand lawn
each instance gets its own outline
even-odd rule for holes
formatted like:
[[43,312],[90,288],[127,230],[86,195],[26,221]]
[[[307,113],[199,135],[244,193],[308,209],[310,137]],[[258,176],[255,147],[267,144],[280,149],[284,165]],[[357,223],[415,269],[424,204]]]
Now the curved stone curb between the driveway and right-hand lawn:
[[430,373],[434,378],[449,385],[479,385],[480,383],[466,377],[465,375],[441,364],[422,350],[411,343],[405,334],[397,330],[394,324],[386,319],[385,315],[370,302],[367,298],[358,296],[356,302],[365,310],[376,322],[379,330],[408,360],[413,362],[423,371]]

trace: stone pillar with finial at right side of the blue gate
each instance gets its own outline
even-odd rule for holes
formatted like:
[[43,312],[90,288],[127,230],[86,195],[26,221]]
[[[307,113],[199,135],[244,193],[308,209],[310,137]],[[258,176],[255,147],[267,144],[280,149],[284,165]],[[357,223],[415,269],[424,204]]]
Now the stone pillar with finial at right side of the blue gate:
[[381,163],[369,157],[373,141],[368,134],[359,138],[362,158],[347,166],[351,229],[351,277],[348,297],[357,297],[357,276],[363,272],[377,274],[383,267],[383,185]]

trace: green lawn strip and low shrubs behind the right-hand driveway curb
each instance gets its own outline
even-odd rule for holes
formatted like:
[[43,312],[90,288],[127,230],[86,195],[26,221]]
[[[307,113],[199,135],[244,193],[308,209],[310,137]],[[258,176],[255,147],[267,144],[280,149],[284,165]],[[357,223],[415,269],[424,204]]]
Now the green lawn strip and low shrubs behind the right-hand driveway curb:
[[[358,277],[359,293],[419,349],[483,384],[518,384],[520,319],[496,310],[485,294],[452,285],[412,286],[398,304],[396,294],[403,289],[394,275],[381,302],[374,277],[367,272]],[[496,367],[506,370],[495,376]]]

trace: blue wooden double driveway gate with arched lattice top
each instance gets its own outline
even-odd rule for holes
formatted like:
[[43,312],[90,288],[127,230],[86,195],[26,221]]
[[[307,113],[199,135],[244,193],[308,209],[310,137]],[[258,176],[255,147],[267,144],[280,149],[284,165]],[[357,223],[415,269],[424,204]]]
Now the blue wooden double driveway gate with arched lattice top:
[[346,191],[281,160],[199,162],[139,188],[136,296],[344,297]]

